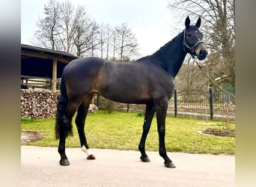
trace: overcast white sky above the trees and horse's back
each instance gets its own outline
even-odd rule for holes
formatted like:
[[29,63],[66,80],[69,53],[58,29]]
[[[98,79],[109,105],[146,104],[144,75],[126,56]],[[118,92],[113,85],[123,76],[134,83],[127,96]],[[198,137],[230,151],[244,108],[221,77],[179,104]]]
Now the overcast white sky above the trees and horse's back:
[[[59,0],[62,1],[62,0]],[[141,56],[156,52],[175,37],[174,14],[168,9],[171,0],[72,0],[73,4],[84,4],[87,13],[97,23],[112,26],[127,22],[135,34]],[[39,16],[43,15],[43,4],[47,0],[21,1],[21,43],[31,43]],[[181,28],[183,25],[181,25]]]

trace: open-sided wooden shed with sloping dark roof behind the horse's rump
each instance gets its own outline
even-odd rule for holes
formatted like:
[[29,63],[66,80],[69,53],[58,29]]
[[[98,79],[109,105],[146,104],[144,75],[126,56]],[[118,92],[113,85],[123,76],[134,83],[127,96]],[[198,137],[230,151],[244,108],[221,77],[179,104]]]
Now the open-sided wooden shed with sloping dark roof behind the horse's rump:
[[67,52],[21,44],[21,85],[30,88],[28,82],[34,80],[33,88],[41,88],[41,80],[45,80],[46,88],[56,91],[64,67],[76,58]]

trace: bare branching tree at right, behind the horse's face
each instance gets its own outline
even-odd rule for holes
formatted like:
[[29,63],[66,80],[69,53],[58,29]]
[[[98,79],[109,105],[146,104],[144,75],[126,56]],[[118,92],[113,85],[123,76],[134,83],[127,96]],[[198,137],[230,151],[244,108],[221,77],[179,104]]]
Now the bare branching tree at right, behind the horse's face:
[[205,61],[210,76],[225,77],[224,82],[234,88],[235,0],[174,0],[168,7],[182,18],[188,14],[201,16],[204,40],[210,51]]

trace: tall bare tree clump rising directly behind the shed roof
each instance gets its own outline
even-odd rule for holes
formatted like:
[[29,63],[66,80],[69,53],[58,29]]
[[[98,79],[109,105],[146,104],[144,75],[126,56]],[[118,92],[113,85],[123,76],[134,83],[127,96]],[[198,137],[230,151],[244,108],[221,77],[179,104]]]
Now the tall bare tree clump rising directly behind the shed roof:
[[37,44],[48,49],[86,55],[95,48],[93,39],[97,23],[86,13],[85,7],[74,7],[70,1],[49,0],[44,16],[37,22]]

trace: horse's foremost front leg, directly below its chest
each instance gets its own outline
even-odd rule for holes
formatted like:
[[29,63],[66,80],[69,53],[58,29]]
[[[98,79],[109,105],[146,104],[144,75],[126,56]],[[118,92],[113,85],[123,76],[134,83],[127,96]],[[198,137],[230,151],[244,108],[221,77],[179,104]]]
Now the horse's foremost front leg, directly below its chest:
[[167,101],[162,101],[159,105],[156,106],[156,121],[157,121],[157,131],[159,134],[159,155],[165,160],[166,168],[175,168],[175,165],[168,158],[166,149],[165,149],[165,117],[168,107]]

